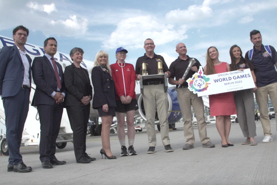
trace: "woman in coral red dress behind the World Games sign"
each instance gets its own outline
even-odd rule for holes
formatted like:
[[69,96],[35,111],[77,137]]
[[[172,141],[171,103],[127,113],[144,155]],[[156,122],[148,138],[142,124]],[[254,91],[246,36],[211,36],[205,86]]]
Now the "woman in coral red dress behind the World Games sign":
[[[218,74],[230,71],[230,66],[226,62],[219,61],[218,56],[219,53],[216,47],[211,46],[208,48],[204,74]],[[215,116],[216,129],[221,137],[222,147],[234,146],[229,141],[230,115],[237,113],[233,92],[209,95],[209,109],[210,115]]]

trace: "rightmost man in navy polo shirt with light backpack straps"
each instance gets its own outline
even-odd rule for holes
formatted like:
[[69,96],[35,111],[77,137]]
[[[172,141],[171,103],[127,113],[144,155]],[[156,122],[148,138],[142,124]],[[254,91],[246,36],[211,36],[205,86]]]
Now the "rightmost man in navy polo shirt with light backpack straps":
[[275,114],[277,113],[277,52],[272,46],[262,44],[262,38],[258,30],[250,32],[250,40],[253,49],[245,54],[245,58],[250,59],[255,65],[257,77],[256,100],[260,109],[260,121],[263,128],[263,143],[273,141],[271,127],[268,116],[268,95],[272,100]]

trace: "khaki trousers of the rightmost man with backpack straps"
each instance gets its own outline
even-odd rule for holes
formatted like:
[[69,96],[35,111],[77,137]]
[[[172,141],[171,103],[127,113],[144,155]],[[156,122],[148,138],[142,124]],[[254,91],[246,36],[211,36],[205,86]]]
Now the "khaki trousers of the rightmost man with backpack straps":
[[260,109],[260,122],[262,125],[263,134],[272,136],[268,116],[268,95],[272,101],[275,114],[277,114],[277,82],[263,87],[258,87],[256,92],[256,100]]

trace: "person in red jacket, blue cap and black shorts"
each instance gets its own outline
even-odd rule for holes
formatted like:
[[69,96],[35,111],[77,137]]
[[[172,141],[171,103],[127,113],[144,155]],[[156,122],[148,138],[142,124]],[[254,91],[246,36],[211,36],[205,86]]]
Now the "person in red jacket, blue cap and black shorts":
[[[121,144],[121,156],[137,155],[134,150],[135,126],[134,114],[138,109],[138,102],[136,99],[136,73],[132,64],[125,63],[127,50],[120,47],[116,50],[117,61],[110,65],[112,76],[115,82],[116,90],[116,117],[117,117],[117,133]],[[127,122],[127,135],[129,148],[125,145],[125,112]]]

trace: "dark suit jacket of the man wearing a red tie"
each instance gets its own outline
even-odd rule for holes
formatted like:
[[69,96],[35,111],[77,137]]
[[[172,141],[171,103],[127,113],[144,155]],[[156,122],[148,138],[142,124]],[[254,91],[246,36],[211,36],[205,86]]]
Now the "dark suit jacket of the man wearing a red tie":
[[[66,93],[62,66],[58,62],[56,62],[56,64],[61,77],[62,88],[60,89],[60,92]],[[42,104],[54,105],[55,100],[52,98],[51,94],[53,91],[57,91],[58,84],[54,68],[46,56],[38,56],[34,59],[32,65],[32,74],[34,83],[36,85],[32,106]]]

